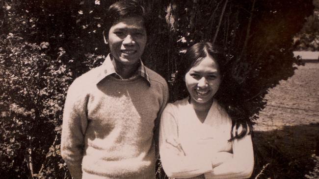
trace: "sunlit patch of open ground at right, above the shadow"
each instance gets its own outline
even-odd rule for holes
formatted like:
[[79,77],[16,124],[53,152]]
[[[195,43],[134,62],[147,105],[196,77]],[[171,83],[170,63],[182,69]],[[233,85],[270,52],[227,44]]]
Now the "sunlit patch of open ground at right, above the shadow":
[[287,81],[269,90],[256,131],[319,123],[319,63],[299,66]]

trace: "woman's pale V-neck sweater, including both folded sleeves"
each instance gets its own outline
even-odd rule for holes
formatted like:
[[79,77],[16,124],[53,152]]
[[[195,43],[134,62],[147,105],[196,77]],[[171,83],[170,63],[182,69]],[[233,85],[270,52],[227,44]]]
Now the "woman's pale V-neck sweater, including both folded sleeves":
[[[231,130],[232,120],[216,100],[203,123],[188,97],[169,103],[160,121],[160,158],[166,175],[187,179],[249,178],[254,165],[251,136],[229,142]],[[216,166],[214,160],[222,163]]]

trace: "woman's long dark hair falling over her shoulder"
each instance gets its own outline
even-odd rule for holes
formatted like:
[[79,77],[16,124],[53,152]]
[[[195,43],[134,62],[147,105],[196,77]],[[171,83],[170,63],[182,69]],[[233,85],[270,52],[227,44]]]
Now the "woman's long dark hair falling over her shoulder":
[[[186,73],[190,68],[197,66],[205,57],[211,56],[217,62],[219,67],[219,73],[221,76],[221,83],[219,89],[217,90],[214,98],[219,102],[219,104],[226,110],[226,112],[230,115],[232,119],[232,131],[231,131],[231,139],[239,139],[245,136],[246,134],[252,133],[252,124],[249,119],[246,119],[245,115],[241,115],[240,103],[241,101],[234,101],[229,90],[234,89],[238,85],[236,81],[232,78],[231,71],[229,70],[228,60],[224,53],[224,50],[217,46],[212,45],[209,42],[197,43],[190,48],[187,49],[185,56],[181,62],[179,67],[179,71],[177,73],[177,88],[179,88],[180,96],[179,99],[185,98],[188,96],[188,91],[186,89],[186,84],[184,81]],[[241,132],[238,132],[238,129],[242,128]]]

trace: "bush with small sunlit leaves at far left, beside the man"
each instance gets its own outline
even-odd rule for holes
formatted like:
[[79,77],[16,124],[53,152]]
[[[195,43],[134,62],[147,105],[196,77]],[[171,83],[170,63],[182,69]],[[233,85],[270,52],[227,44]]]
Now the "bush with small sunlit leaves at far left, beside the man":
[[50,146],[61,133],[62,106],[72,73],[60,60],[48,57],[48,42],[31,44],[9,33],[1,46],[0,173],[24,178],[27,167],[31,174],[46,176],[49,169],[41,169],[42,163],[63,163],[55,157],[59,145],[53,151]]

